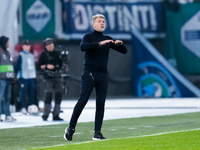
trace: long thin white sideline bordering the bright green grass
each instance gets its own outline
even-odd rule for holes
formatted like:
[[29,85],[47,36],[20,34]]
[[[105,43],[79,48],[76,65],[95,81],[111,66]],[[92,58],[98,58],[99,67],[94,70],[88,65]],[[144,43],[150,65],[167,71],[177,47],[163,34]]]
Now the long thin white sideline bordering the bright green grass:
[[[164,135],[164,134],[170,134],[170,133],[180,133],[180,132],[197,131],[197,130],[200,130],[200,128],[189,129],[189,130],[162,132],[162,133],[155,133],[155,134],[149,134],[149,135],[140,135],[140,136],[132,136],[132,137],[124,137],[124,138],[113,138],[113,139],[98,140],[98,141],[85,141],[85,142],[80,142],[80,143],[72,143],[72,144],[68,144],[68,145],[78,145],[78,144],[86,144],[86,143],[93,143],[93,142],[102,142],[102,141],[108,141],[108,140],[114,140],[114,139],[120,140],[120,139],[149,137],[149,136],[157,136],[157,135]],[[64,146],[64,145],[66,145],[66,144],[59,144],[59,145],[54,145],[54,146],[40,147],[40,149],[42,149],[42,148],[50,148],[50,147],[58,147],[58,146]],[[33,149],[38,149],[38,148],[33,148]]]

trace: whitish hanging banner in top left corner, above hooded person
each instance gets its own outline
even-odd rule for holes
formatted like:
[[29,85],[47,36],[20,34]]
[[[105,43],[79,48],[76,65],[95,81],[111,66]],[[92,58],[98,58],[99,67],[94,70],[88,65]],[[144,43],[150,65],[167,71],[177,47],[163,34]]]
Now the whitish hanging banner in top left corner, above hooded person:
[[0,36],[9,37],[8,50],[13,55],[15,45],[18,43],[17,10],[19,0],[0,0]]

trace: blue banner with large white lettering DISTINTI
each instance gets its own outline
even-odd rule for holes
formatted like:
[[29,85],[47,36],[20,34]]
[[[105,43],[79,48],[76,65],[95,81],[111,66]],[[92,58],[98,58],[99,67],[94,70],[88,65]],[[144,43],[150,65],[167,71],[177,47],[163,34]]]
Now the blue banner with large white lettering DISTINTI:
[[106,17],[105,33],[114,38],[131,39],[130,25],[136,26],[147,38],[164,36],[163,0],[133,3],[65,2],[65,33],[74,39],[91,32],[95,14]]

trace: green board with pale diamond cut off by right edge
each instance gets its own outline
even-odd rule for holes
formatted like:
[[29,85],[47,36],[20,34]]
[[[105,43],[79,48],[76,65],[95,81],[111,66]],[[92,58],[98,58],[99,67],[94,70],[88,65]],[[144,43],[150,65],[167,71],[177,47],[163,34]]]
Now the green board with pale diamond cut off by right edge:
[[166,11],[164,56],[184,75],[200,74],[200,3]]

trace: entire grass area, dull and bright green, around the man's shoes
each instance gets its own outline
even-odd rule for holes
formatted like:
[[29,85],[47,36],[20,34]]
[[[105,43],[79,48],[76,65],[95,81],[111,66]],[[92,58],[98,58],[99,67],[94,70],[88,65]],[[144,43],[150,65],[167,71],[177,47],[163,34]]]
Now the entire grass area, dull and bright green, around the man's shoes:
[[200,130],[144,136],[200,128],[200,113],[104,121],[102,133],[109,140],[100,142],[92,141],[93,122],[78,123],[71,142],[63,138],[66,127],[60,124],[1,129],[0,149],[200,149]]

